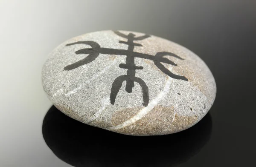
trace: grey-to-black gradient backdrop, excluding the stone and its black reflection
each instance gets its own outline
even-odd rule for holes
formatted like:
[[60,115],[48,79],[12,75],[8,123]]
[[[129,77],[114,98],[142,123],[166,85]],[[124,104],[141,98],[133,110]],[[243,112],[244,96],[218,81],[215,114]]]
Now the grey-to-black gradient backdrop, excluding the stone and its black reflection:
[[172,40],[211,69],[217,96],[209,141],[177,166],[255,164],[256,1],[0,0],[1,167],[70,166],[42,135],[52,104],[41,86],[41,67],[64,40],[106,29]]

